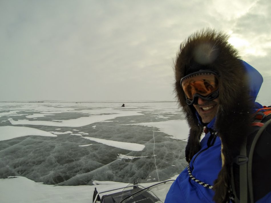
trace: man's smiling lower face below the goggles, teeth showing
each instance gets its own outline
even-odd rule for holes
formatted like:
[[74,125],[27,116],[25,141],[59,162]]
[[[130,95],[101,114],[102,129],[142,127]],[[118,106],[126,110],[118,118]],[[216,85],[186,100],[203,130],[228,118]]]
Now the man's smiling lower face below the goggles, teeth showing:
[[218,98],[208,101],[198,98],[198,104],[193,104],[199,115],[201,116],[201,120],[203,123],[209,123],[215,115],[217,114],[218,109]]

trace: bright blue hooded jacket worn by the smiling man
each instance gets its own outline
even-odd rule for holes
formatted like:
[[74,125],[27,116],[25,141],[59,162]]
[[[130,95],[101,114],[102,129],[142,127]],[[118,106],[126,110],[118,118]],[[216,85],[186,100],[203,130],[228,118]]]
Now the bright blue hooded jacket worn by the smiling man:
[[[244,67],[246,67],[247,77],[250,84],[250,95],[254,98],[255,102],[263,79],[260,73],[251,65],[244,61],[242,61],[242,63]],[[255,110],[258,108],[263,108],[263,106],[255,102]],[[198,114],[197,117],[199,118]],[[207,128],[216,130],[214,129],[215,120],[216,118],[213,118],[213,120],[207,125]],[[208,146],[207,141],[210,136],[211,134],[208,132],[201,140],[201,149],[191,159],[190,169],[192,171],[193,177],[200,180],[201,182],[213,185],[222,168],[221,140],[219,137],[211,138],[212,145]],[[190,178],[186,167],[171,185],[167,193],[165,203],[214,202],[214,194],[214,190],[204,187],[201,184],[193,181]],[[271,192],[257,201],[257,203],[263,202],[271,202]]]

